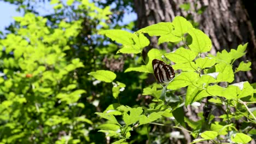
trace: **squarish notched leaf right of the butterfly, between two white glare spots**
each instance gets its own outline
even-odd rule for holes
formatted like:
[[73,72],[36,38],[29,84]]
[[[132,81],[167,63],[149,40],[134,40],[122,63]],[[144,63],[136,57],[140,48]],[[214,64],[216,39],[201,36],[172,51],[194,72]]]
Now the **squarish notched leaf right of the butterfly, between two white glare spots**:
[[215,65],[216,72],[219,72],[217,77],[218,82],[232,82],[234,81],[234,73],[232,66],[224,62]]

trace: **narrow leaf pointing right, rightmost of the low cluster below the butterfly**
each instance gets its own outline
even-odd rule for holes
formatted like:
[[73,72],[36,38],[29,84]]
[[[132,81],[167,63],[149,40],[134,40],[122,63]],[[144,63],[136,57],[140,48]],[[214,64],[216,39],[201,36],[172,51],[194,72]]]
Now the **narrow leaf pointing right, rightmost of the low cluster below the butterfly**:
[[150,115],[148,117],[145,115],[141,115],[139,118],[139,125],[154,122],[154,121],[156,121],[156,119],[161,118],[163,113],[165,113],[165,112],[164,111],[152,112],[152,113],[150,113]]

